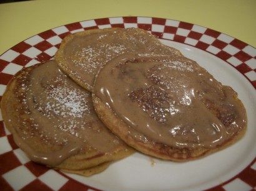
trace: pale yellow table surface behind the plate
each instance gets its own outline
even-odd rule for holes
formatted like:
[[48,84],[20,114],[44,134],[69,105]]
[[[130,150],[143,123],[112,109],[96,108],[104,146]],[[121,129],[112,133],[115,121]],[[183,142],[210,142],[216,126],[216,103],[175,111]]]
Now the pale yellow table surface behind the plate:
[[0,4],[0,55],[45,30],[77,21],[147,16],[190,22],[256,47],[255,0],[36,0]]

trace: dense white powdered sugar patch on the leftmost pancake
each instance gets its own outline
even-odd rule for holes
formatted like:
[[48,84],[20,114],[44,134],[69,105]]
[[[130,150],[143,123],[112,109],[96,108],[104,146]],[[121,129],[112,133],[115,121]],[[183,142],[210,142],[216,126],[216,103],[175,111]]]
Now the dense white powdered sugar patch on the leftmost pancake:
[[[47,82],[42,95],[36,96],[36,106],[48,118],[82,118],[89,113],[88,94],[79,86],[72,86],[68,77],[55,77],[54,82]],[[74,83],[74,82],[72,82]]]

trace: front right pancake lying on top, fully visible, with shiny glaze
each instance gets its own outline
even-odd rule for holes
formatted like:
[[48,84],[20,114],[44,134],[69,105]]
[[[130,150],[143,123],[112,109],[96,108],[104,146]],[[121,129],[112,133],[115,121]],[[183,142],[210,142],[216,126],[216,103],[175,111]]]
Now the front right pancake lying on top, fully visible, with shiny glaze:
[[207,156],[245,133],[237,93],[183,56],[121,55],[96,77],[99,118],[144,154],[172,161]]

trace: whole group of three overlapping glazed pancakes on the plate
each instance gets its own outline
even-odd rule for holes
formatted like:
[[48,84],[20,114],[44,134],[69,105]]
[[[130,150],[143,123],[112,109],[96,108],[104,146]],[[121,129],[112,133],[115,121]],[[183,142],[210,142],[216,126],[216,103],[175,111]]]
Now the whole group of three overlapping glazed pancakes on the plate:
[[12,78],[1,110],[32,161],[85,176],[134,151],[197,159],[234,143],[247,126],[232,88],[135,28],[68,35],[55,60]]

